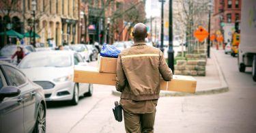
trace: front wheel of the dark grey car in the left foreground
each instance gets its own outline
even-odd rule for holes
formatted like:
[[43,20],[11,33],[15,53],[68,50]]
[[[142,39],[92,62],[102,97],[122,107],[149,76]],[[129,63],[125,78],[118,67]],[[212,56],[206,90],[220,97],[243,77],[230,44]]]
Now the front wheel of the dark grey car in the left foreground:
[[38,108],[38,117],[35,122],[35,128],[33,130],[33,133],[43,133],[46,132],[46,114],[45,114],[45,108],[42,103],[40,103]]

